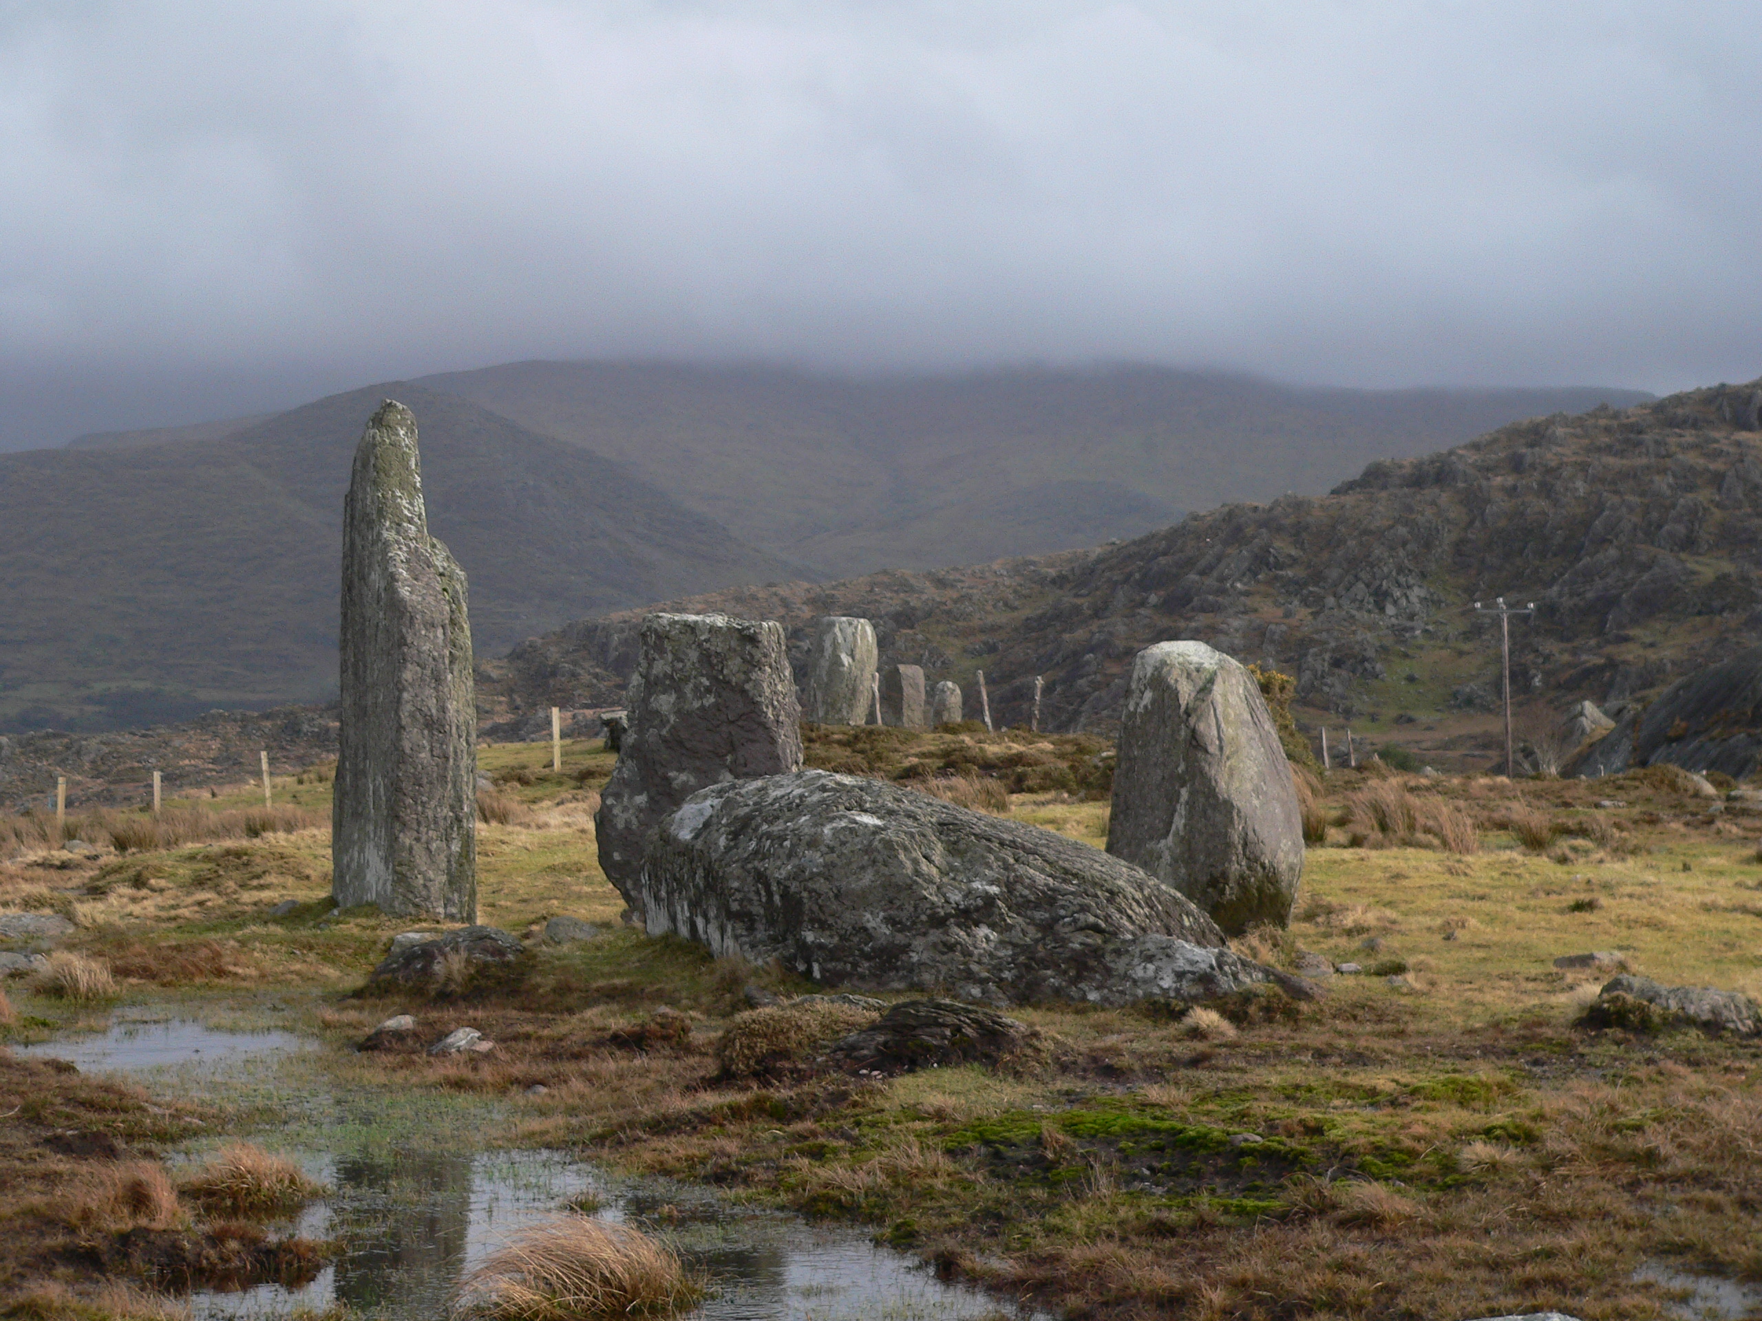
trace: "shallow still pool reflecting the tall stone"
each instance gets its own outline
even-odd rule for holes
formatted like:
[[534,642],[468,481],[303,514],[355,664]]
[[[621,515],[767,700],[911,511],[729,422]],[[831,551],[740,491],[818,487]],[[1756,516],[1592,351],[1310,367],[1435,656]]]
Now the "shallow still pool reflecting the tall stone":
[[[548,1150],[481,1150],[456,1111],[425,1118],[409,1097],[314,1090],[294,1096],[278,1069],[287,1032],[229,1034],[190,1022],[116,1023],[30,1053],[86,1071],[127,1071],[164,1090],[245,1090],[301,1111],[285,1131],[259,1136],[329,1187],[287,1233],[333,1238],[342,1254],[312,1284],[273,1284],[190,1298],[199,1321],[284,1317],[345,1303],[384,1321],[435,1321],[460,1277],[513,1231],[585,1198],[594,1214],[664,1238],[707,1286],[696,1321],[978,1321],[1034,1314],[996,1295],[944,1284],[916,1259],[869,1235],[795,1215],[735,1207],[712,1191],[627,1180]],[[282,1069],[285,1074],[285,1069]],[[479,1125],[481,1129],[481,1125]],[[190,1152],[199,1159],[203,1152]]]

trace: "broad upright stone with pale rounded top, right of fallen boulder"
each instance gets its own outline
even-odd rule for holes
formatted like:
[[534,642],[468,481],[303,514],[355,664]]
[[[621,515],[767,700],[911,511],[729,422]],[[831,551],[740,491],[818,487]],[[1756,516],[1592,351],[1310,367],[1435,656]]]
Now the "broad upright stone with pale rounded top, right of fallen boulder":
[[1290,921],[1304,870],[1297,787],[1260,687],[1223,652],[1158,643],[1133,662],[1107,851],[1232,935]]

